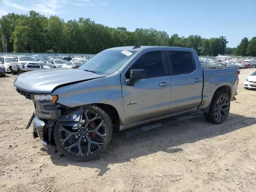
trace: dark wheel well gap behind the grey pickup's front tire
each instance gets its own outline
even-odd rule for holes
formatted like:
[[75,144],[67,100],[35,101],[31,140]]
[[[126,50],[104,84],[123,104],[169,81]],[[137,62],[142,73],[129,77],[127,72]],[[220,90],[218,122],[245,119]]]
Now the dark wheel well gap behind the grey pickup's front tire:
[[119,120],[119,115],[118,115],[118,112],[117,112],[116,108],[114,108],[112,105],[102,104],[102,103],[96,103],[95,105],[102,108],[109,115],[114,130],[119,131],[120,120]]

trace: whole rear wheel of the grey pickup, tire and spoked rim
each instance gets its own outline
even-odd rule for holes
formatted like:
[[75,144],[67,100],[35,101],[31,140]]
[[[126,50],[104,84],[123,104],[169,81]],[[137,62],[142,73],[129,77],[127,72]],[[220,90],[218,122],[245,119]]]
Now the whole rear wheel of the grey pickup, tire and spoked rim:
[[228,117],[230,110],[230,98],[228,94],[217,92],[212,98],[208,113],[204,113],[204,118],[211,123],[221,124]]

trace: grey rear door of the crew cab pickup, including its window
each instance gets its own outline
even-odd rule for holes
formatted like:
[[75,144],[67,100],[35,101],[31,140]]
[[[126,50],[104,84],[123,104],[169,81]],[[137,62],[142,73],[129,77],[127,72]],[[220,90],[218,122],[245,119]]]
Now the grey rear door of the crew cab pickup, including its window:
[[202,101],[203,72],[192,52],[166,51],[171,78],[170,113],[198,108]]

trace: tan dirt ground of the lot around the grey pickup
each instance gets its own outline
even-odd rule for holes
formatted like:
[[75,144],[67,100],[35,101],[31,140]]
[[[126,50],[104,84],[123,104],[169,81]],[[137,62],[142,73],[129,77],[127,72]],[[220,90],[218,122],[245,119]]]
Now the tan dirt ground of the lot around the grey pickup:
[[99,158],[78,162],[42,148],[26,124],[33,104],[0,78],[1,192],[255,192],[256,91],[243,82],[221,125],[203,116],[124,137],[116,133]]

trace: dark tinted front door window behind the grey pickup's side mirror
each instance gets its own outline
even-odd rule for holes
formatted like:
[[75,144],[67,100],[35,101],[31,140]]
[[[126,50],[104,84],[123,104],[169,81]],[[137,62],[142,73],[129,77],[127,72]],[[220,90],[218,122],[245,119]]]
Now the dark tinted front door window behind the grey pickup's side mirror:
[[161,51],[148,52],[142,55],[126,73],[126,78],[130,78],[131,69],[144,69],[146,78],[164,76],[164,64]]

